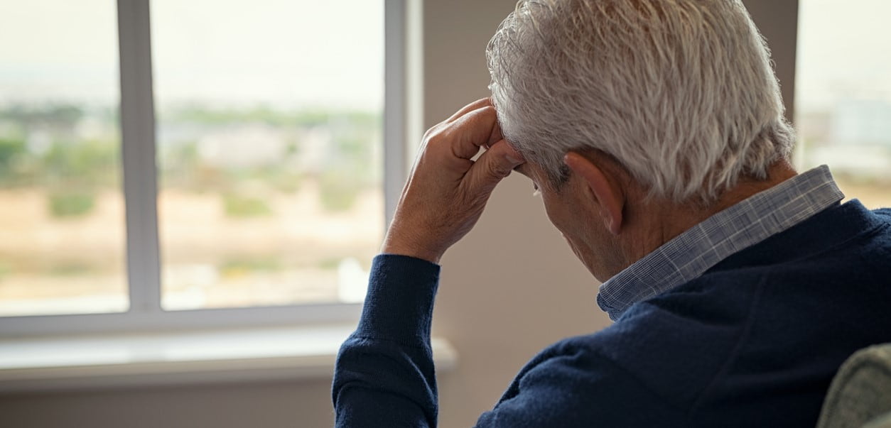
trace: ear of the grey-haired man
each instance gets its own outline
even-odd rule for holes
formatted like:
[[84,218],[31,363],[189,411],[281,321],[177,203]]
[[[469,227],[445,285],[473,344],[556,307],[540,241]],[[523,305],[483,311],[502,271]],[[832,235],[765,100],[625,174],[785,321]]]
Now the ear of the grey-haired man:
[[604,226],[609,233],[618,235],[619,230],[622,230],[625,191],[614,185],[600,166],[580,153],[570,151],[563,157],[563,162],[588,185],[597,204],[601,206]]

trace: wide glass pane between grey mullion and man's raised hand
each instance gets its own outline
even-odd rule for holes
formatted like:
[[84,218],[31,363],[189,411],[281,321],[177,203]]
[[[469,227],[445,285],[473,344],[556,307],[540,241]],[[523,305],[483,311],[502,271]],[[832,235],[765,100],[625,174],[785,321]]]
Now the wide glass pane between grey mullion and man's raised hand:
[[383,2],[154,0],[162,303],[352,302],[383,234]]

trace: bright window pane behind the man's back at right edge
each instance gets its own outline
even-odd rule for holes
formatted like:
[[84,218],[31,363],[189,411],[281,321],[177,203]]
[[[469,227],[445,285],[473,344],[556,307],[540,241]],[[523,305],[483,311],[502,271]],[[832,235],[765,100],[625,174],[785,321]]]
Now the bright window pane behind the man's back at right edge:
[[798,7],[797,155],[829,165],[848,198],[891,206],[891,2]]

